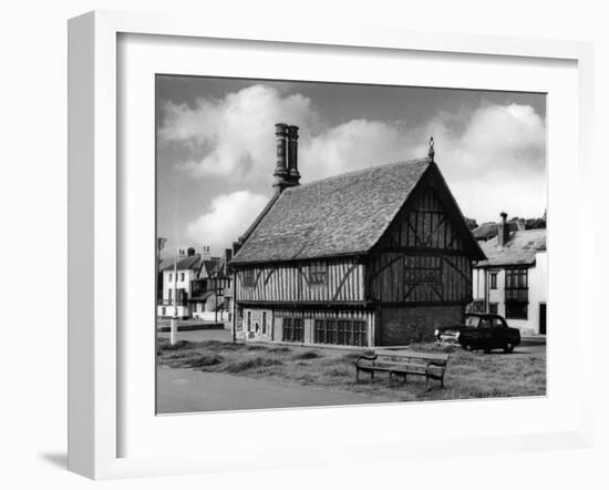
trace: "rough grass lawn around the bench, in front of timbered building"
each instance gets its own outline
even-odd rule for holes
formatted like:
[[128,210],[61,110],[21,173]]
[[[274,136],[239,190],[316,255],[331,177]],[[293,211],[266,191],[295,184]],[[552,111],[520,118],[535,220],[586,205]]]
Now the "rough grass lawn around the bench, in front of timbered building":
[[334,349],[233,344],[219,340],[178,341],[159,338],[157,359],[169,367],[235,376],[275,379],[304,386],[322,386],[368,395],[371,401],[452,400],[463,398],[516,397],[546,394],[545,354],[484,354],[435,344],[416,344],[415,351],[450,351],[444,377],[437,381],[409,377],[407,384],[378,374],[373,381],[365,374],[355,382],[354,360],[360,355]]

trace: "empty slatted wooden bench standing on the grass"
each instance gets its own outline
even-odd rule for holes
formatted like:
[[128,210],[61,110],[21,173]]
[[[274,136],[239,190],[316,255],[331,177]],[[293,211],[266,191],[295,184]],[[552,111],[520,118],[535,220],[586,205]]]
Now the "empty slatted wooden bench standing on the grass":
[[406,382],[406,376],[424,376],[425,389],[430,379],[440,381],[444,388],[444,372],[448,364],[448,354],[414,353],[412,350],[376,350],[373,355],[362,355],[355,360],[355,379],[360,380],[360,371],[369,372],[374,379],[374,372],[389,372],[392,377],[401,376]]

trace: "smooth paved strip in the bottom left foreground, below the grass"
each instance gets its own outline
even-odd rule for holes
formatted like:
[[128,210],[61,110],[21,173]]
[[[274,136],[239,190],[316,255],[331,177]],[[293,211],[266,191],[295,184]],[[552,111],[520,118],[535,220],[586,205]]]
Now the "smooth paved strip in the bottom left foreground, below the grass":
[[159,366],[157,411],[179,414],[369,404],[363,395]]

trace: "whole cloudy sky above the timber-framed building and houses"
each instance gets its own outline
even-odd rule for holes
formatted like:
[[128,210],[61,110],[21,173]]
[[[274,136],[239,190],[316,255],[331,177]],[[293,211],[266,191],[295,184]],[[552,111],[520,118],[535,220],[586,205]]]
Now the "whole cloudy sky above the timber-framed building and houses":
[[435,160],[478,223],[546,207],[543,94],[157,75],[157,231],[220,254],[273,190],[275,123],[300,126],[301,183]]

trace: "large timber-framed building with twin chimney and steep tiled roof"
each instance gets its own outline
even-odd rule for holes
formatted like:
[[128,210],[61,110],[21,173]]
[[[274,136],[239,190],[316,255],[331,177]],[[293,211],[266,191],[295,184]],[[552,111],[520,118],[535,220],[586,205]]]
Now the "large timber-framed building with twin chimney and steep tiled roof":
[[434,161],[299,185],[278,124],[276,193],[234,244],[237,339],[359,347],[429,340],[472,302],[485,256]]

